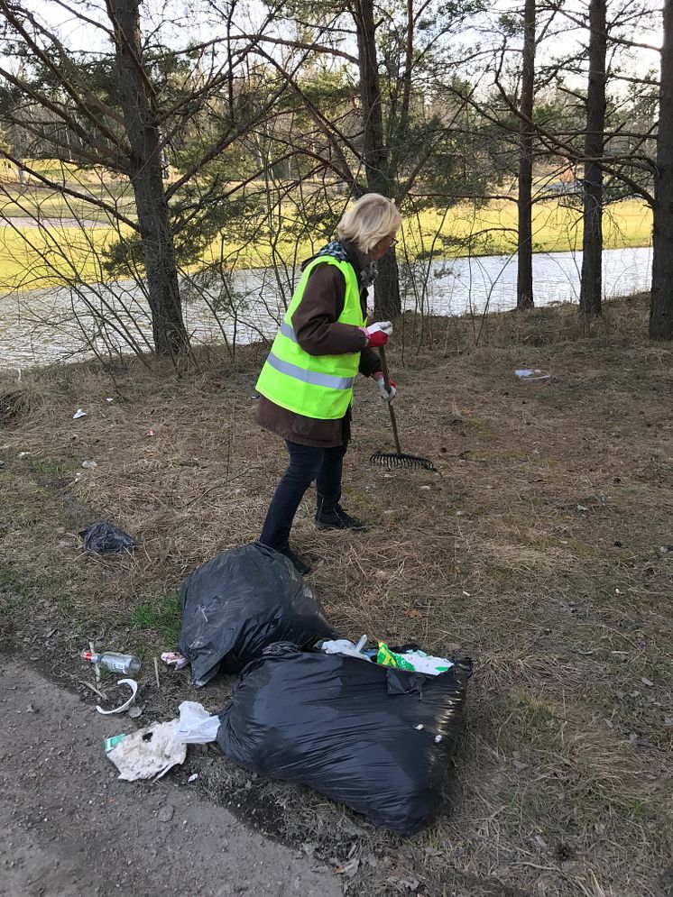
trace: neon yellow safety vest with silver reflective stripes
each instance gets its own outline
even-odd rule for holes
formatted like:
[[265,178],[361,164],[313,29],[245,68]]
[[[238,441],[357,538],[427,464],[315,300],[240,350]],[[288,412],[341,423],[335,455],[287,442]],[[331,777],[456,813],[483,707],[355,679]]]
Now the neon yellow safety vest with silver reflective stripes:
[[276,405],[297,414],[318,419],[336,419],[346,414],[353,397],[353,384],[360,352],[339,355],[311,355],[301,348],[292,327],[292,316],[300,305],[311,271],[318,264],[333,264],[346,280],[344,309],[340,324],[364,325],[360,291],[352,265],[321,256],[309,262],[285,313],[272,351],[257,380],[257,391]]

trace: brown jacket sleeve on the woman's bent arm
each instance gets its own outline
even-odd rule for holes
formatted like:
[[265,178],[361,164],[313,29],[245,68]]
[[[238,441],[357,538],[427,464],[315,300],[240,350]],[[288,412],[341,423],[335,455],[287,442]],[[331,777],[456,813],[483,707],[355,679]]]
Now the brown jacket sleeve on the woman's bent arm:
[[297,342],[309,355],[361,352],[366,337],[359,327],[339,324],[346,301],[346,279],[336,265],[318,265],[309,275],[299,306],[292,315]]

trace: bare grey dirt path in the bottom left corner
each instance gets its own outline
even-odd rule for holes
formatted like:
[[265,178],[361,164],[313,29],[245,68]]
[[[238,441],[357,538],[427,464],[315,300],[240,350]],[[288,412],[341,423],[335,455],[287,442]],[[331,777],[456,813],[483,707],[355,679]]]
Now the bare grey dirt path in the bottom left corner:
[[14,662],[2,664],[0,692],[3,897],[341,893],[331,874],[244,828],[195,786],[117,781],[103,739],[128,719],[103,719]]

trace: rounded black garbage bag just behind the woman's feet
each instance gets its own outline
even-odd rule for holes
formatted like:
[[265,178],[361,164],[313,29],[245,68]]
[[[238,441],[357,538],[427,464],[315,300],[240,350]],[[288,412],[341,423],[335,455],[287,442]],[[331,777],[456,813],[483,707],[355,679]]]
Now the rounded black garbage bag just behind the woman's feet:
[[313,590],[284,554],[259,543],[217,554],[182,583],[180,653],[192,682],[239,673],[273,642],[334,638]]

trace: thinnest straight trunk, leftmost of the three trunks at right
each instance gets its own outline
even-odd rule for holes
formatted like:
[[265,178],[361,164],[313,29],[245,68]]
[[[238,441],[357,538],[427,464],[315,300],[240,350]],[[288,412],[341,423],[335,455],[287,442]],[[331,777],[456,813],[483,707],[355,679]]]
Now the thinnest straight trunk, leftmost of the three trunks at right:
[[535,85],[535,0],[523,8],[523,64],[521,67],[521,118],[519,124],[519,232],[517,245],[516,307],[533,307],[533,115]]

